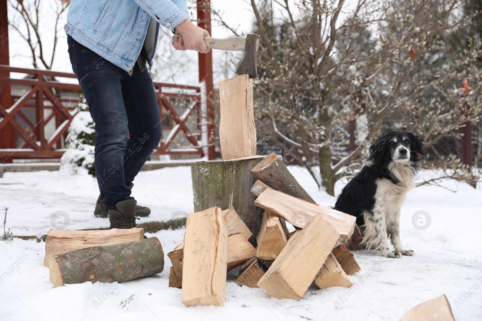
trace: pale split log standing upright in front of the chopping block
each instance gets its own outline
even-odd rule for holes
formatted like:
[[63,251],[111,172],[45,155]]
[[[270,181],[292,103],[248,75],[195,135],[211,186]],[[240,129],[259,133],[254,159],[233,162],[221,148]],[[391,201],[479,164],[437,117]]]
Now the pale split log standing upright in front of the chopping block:
[[186,307],[224,305],[227,258],[228,235],[221,209],[187,215],[181,293]]

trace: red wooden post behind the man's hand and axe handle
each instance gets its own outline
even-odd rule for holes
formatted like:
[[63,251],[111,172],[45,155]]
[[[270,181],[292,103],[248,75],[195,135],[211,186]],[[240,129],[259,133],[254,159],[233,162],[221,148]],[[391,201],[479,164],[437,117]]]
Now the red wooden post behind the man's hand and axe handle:
[[[207,30],[211,35],[211,2],[210,0],[196,0],[198,9],[198,26]],[[214,87],[213,87],[213,55],[212,51],[208,53],[199,53],[199,82],[203,82],[206,86],[207,99],[207,122],[208,122],[208,159],[215,159],[216,152],[214,150]]]

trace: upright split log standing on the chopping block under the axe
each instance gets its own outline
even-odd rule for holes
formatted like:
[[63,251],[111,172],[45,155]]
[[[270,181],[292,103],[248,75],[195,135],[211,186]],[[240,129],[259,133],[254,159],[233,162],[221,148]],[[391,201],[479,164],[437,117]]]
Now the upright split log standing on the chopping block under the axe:
[[219,82],[219,146],[222,160],[256,154],[253,79],[248,75]]

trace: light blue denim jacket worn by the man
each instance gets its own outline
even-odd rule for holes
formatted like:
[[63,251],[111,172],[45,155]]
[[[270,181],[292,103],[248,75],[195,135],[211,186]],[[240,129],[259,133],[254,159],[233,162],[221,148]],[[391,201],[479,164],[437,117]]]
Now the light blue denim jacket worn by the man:
[[154,44],[147,48],[152,66],[159,25],[170,30],[189,19],[187,0],[71,0],[65,32],[101,57],[129,71],[156,20]]

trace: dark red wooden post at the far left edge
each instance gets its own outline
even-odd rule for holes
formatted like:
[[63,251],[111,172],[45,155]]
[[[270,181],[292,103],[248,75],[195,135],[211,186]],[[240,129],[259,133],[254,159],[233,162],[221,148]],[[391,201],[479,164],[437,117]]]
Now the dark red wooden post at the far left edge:
[[[0,0],[0,64],[10,64],[8,49],[8,18],[7,18],[7,0]],[[10,77],[10,73],[0,73],[0,77]],[[8,109],[12,105],[10,84],[1,84],[0,86],[0,103],[3,108]],[[10,124],[0,129],[0,148],[14,149],[15,133]],[[12,158],[4,159],[3,162],[11,163]]]

